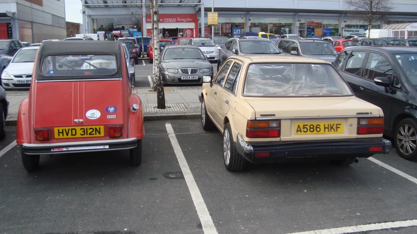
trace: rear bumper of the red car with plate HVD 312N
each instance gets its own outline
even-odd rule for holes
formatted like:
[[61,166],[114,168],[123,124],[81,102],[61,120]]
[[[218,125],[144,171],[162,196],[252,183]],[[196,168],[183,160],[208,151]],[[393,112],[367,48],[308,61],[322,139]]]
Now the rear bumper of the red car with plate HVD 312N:
[[136,147],[136,138],[115,140],[77,141],[52,144],[23,144],[22,152],[27,155],[65,154],[124,150]]

